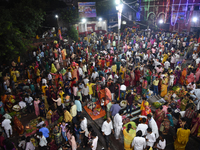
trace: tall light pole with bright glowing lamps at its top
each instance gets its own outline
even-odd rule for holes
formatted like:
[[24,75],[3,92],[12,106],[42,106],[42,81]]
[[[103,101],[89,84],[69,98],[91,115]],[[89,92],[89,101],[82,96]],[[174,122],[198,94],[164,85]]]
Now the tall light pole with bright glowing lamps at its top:
[[119,51],[119,47],[120,47],[120,29],[121,29],[121,18],[122,18],[122,9],[123,9],[123,4],[121,4],[120,0],[116,0],[115,1],[117,6],[116,6],[116,10],[118,11],[117,15],[118,15],[118,51]]

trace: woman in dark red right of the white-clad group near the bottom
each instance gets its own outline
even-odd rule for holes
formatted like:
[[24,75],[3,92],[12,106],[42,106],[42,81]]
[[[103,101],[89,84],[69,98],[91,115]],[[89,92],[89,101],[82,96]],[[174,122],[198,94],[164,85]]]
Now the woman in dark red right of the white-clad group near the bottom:
[[162,110],[163,107],[160,106],[156,111],[155,111],[155,114],[154,114],[154,119],[156,121],[156,124],[158,126],[158,129],[160,129],[160,125],[161,123],[163,122],[164,118],[165,118],[165,112]]

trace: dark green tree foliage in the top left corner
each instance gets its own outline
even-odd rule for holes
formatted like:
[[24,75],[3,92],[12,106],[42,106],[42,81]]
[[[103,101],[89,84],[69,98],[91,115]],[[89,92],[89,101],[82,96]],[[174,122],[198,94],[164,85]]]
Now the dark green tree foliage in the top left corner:
[[[40,0],[36,0],[40,1]],[[12,7],[0,9],[0,59],[8,64],[31,48],[30,38],[35,37],[44,18],[44,11],[36,9],[33,0],[10,3]]]

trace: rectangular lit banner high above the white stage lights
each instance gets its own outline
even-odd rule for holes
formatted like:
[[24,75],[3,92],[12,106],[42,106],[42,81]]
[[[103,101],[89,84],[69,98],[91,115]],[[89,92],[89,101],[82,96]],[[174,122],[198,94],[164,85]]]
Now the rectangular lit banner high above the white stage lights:
[[93,18],[96,17],[96,3],[95,2],[78,2],[79,17]]

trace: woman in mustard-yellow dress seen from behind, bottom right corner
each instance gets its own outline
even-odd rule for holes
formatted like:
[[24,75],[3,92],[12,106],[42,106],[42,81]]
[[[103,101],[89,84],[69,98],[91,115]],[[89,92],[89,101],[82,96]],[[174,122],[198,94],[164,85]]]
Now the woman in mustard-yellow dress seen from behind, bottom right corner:
[[174,142],[174,149],[175,150],[185,150],[187,142],[189,141],[190,136],[190,129],[188,129],[187,124],[182,126],[177,130],[176,133],[176,140]]

